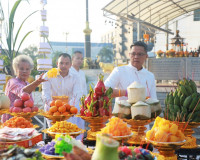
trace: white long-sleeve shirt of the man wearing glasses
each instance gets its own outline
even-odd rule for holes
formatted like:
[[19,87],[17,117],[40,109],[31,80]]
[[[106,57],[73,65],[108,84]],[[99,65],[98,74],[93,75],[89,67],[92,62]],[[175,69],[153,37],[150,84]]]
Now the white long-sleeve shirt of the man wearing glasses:
[[[133,82],[139,82],[146,88],[146,96],[157,99],[156,84],[153,73],[145,68],[137,70],[130,63],[126,66],[116,67],[105,81],[106,87],[127,89]],[[117,99],[127,99],[127,97],[119,97]],[[116,100],[117,100],[116,99]]]

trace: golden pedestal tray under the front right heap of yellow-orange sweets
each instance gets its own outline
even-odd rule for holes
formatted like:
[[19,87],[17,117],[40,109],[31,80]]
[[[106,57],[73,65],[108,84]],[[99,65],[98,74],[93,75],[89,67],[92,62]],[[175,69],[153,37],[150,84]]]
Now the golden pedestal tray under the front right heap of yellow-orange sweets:
[[146,141],[158,149],[159,154],[155,154],[157,160],[177,160],[175,150],[179,149],[186,142],[186,140],[181,142],[156,142],[148,139]]

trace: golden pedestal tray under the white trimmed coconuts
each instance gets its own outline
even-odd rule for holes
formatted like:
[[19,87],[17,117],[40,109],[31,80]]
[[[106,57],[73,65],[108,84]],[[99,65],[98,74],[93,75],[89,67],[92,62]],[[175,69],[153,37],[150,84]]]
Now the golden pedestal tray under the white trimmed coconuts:
[[154,121],[154,118],[148,120],[134,120],[134,119],[123,119],[126,123],[131,125],[133,136],[127,141],[129,144],[141,145],[146,144],[145,141],[145,125]]

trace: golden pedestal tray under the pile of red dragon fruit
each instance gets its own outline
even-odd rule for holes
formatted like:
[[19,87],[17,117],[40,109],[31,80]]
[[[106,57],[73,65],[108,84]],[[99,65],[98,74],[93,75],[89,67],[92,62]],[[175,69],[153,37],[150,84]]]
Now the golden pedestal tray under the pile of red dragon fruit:
[[90,123],[89,127],[91,129],[87,131],[87,140],[90,140],[90,141],[96,140],[96,134],[98,134],[98,132],[101,131],[103,127],[105,127],[104,123],[110,118],[109,116],[86,117],[86,116],[80,116],[80,115],[77,115],[77,117],[80,117],[83,120]]

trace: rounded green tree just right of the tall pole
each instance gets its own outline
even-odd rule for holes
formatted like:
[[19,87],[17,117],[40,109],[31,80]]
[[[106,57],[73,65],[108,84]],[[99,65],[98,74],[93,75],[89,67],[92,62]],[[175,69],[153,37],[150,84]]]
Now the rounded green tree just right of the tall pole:
[[103,47],[99,53],[98,56],[100,56],[100,61],[104,63],[111,63],[113,62],[113,51],[109,47]]

